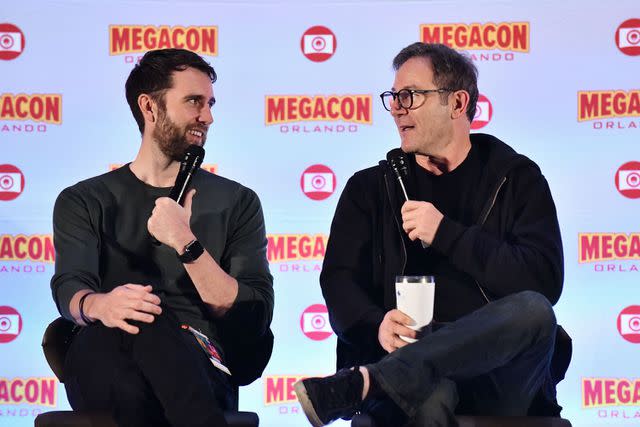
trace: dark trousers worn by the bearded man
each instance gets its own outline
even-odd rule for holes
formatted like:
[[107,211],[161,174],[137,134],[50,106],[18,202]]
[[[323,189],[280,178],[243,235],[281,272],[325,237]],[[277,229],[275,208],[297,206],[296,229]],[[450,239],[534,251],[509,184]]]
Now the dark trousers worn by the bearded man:
[[96,322],[75,337],[64,367],[71,407],[110,412],[119,426],[226,426],[237,394],[193,335],[166,307],[131,323],[137,335]]

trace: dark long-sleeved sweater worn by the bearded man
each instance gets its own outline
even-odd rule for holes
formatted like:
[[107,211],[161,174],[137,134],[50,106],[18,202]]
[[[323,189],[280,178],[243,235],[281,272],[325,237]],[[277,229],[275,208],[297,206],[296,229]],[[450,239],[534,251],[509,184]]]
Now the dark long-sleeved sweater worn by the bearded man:
[[[109,292],[126,283],[152,285],[163,307],[218,342],[226,359],[238,359],[236,344],[260,342],[253,358],[266,364],[272,342],[273,279],[260,201],[250,189],[204,170],[194,175],[192,186],[197,194],[191,229],[238,281],[236,301],[222,318],[209,314],[175,251],[152,244],[147,220],[155,200],[167,196],[170,188],[145,184],[129,165],[79,182],[58,196],[53,214],[53,298],[60,313],[73,320],[69,302],[81,289]],[[234,360],[229,363],[235,365]],[[236,379],[243,382],[242,377],[238,372]]]

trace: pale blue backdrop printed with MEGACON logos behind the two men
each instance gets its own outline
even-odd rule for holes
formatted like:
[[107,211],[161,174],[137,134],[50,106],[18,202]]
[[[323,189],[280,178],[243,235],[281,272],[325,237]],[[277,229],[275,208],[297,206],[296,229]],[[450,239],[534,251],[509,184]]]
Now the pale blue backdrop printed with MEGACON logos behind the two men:
[[566,267],[556,312],[574,339],[564,416],[640,425],[640,7],[599,3],[3,1],[0,426],[69,407],[40,348],[58,316],[53,203],[133,159],[124,82],[161,47],[214,65],[205,166],[253,188],[266,216],[276,344],[240,406],[265,426],[307,425],[292,384],[335,364],[318,284],[331,218],[347,179],[399,145],[378,94],[394,55],[417,40],[471,55],[474,132],[534,159],[551,185]]

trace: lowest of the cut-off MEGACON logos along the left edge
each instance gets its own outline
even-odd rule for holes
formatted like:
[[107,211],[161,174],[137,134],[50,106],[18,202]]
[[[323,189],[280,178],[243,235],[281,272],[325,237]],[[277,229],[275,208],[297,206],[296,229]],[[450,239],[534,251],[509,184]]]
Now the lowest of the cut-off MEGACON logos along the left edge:
[[58,380],[56,378],[0,378],[0,405],[52,407],[57,404]]

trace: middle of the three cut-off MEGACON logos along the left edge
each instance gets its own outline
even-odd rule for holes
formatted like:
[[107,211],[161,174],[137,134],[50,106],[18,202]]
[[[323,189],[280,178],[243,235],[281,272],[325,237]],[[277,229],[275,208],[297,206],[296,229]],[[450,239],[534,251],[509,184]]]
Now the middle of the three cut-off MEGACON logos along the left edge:
[[0,234],[0,273],[45,273],[55,257],[50,234]]

